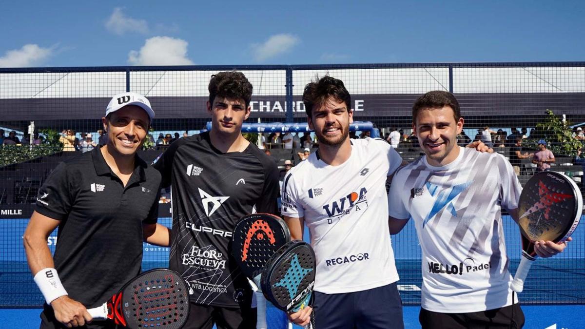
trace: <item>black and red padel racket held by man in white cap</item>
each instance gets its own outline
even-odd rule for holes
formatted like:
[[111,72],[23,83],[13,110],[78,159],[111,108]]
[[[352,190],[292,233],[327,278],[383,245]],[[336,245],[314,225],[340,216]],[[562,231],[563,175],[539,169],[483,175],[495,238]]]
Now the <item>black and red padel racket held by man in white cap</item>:
[[187,283],[172,270],[149,270],[126,283],[102,306],[87,311],[95,320],[109,319],[132,329],[178,329],[189,316]]

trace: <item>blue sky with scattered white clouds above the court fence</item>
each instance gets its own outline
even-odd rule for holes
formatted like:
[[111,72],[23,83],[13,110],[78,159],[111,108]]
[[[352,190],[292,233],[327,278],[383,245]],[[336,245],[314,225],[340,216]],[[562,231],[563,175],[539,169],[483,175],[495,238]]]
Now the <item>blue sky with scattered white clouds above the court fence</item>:
[[582,61],[583,1],[21,1],[0,67]]

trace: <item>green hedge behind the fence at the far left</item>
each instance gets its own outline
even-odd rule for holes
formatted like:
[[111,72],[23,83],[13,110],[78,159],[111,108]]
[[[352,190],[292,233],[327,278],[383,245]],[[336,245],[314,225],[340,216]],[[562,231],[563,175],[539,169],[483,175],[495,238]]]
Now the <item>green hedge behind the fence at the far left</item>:
[[0,167],[52,155],[63,150],[63,143],[59,142],[59,132],[53,129],[42,129],[40,132],[46,136],[41,145],[1,145]]

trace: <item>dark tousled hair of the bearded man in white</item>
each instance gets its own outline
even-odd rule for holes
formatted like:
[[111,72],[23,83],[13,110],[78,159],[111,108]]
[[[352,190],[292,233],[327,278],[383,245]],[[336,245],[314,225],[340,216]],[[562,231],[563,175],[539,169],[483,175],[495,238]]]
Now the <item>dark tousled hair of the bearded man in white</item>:
[[352,111],[352,97],[345,88],[345,85],[343,85],[343,81],[325,76],[318,79],[317,82],[305,85],[305,90],[302,93],[302,102],[305,103],[307,116],[311,117],[313,109],[323,106],[329,97],[333,97],[338,102],[345,102],[347,112]]

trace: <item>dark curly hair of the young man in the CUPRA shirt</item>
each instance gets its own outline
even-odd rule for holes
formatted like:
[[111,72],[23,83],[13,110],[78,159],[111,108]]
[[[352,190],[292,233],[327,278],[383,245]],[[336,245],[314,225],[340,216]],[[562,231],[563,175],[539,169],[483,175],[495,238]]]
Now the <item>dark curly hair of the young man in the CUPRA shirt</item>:
[[247,108],[252,100],[252,84],[242,72],[219,72],[209,81],[209,102],[213,105],[218,96],[228,100],[244,100]]

